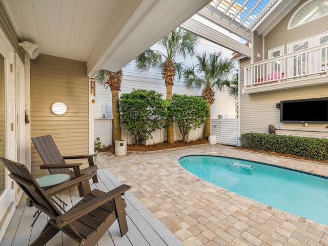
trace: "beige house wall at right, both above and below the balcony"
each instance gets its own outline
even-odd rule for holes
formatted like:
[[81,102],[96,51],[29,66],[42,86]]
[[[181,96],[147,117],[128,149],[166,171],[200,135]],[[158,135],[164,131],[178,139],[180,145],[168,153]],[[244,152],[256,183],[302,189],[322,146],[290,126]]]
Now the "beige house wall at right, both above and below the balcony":
[[[264,37],[264,57],[268,59],[268,50],[284,46],[286,53],[287,44],[296,42],[306,37],[327,32],[328,16],[321,17],[300,27],[287,30],[288,23],[293,13],[306,1],[301,1],[281,22]],[[259,36],[254,33],[254,56],[258,47],[262,48]],[[241,59],[240,65],[240,88],[244,85],[243,66],[250,64],[250,59]],[[256,62],[256,60],[255,60]],[[260,132],[268,133],[268,127],[273,124],[277,134],[312,136],[322,138],[328,137],[327,124],[309,123],[304,126],[302,123],[282,123],[280,122],[280,109],[276,104],[281,100],[306,99],[327,97],[328,84],[320,86],[306,86],[283,90],[259,92],[253,94],[240,93],[240,133]]]

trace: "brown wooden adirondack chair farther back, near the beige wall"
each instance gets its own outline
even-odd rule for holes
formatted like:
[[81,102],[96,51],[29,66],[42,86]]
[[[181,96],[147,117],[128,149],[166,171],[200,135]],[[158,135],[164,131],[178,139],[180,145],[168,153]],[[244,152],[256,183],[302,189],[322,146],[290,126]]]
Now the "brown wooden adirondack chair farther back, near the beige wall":
[[[41,169],[48,169],[51,174],[67,173],[71,176],[71,178],[76,178],[84,174],[89,174],[92,176],[92,180],[94,183],[98,182],[98,168],[94,164],[94,154],[62,156],[51,135],[32,137],[32,141],[37,152],[45,163],[45,165],[40,166]],[[66,163],[65,159],[88,159],[89,167],[85,169],[80,169],[79,166],[81,166],[82,163]],[[70,168],[73,168],[73,172],[70,170]],[[89,186],[89,183],[83,183],[78,186],[80,196],[88,194],[88,191],[85,191],[86,189],[88,189],[87,186]]]

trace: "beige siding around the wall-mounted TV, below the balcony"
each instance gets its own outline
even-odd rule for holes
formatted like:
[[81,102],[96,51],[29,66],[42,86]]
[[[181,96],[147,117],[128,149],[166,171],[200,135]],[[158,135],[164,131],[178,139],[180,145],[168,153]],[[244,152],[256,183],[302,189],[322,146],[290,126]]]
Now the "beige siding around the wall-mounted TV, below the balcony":
[[301,123],[280,122],[280,109],[276,104],[281,100],[326,97],[327,85],[302,87],[289,90],[242,94],[240,110],[240,133],[267,133],[270,124],[275,125],[277,134],[313,136],[328,138],[327,124],[309,123],[307,127]]

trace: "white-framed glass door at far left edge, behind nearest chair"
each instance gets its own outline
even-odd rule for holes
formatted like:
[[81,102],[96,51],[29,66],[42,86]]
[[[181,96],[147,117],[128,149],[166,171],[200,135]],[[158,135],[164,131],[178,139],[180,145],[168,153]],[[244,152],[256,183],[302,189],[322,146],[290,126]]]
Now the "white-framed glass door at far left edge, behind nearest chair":
[[[15,52],[0,29],[0,156],[16,161],[15,145]],[[0,240],[15,211],[15,182],[0,164]]]

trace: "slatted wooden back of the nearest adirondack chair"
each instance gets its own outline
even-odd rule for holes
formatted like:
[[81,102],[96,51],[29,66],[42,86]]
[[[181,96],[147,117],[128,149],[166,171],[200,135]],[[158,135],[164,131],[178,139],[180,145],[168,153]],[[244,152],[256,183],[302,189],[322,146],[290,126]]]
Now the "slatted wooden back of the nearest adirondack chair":
[[0,157],[5,167],[10,172],[9,176],[16,181],[18,186],[28,195],[33,202],[33,206],[55,219],[61,215],[55,204],[46,195],[44,190],[35,181],[32,174],[25,165]]

